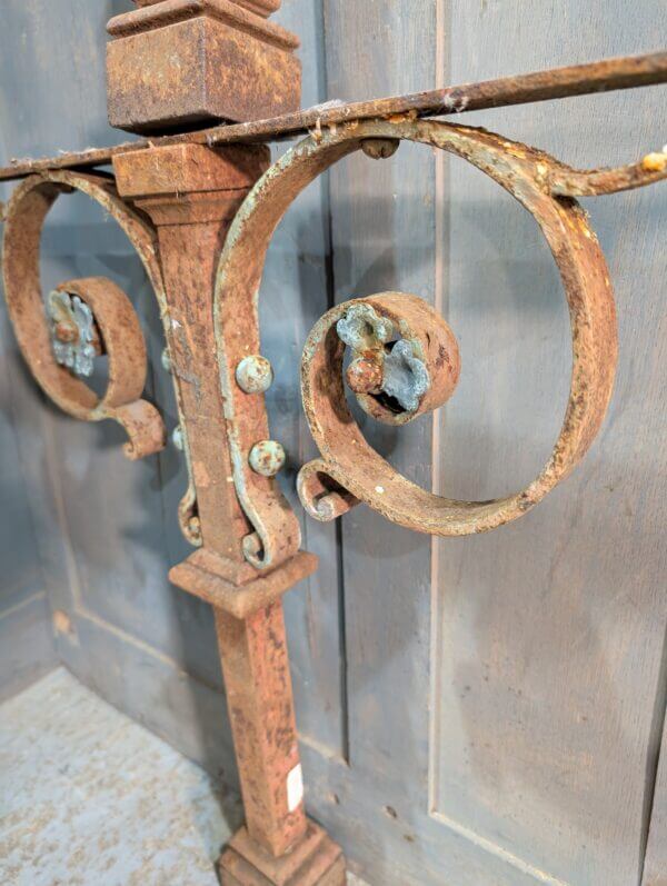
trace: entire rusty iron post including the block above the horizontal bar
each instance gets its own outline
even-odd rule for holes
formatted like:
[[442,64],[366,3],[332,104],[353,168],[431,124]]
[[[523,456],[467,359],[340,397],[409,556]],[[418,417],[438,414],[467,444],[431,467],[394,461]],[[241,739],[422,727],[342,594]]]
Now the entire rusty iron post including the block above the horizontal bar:
[[[298,41],[265,20],[270,11],[266,2],[259,7],[262,16],[251,11],[257,2],[168,0],[115,19],[108,56],[112,122],[155,130],[191,113],[252,119],[266,111],[267,101],[273,110],[290,110],[295,97],[298,102],[300,79],[287,50]],[[198,111],[198,89],[189,80],[165,90],[165,78],[147,80],[145,68],[160,72],[167,64],[166,44],[171,54],[189,58],[202,28],[208,58],[202,63],[198,57],[199,67],[190,66],[188,78],[198,80],[215,69],[225,82],[203,84],[210,101]],[[231,42],[217,42],[230,33]],[[267,70],[271,82],[266,73],[252,77],[252,71]],[[239,767],[246,826],[220,860],[222,884],[285,884],[289,877],[295,886],[340,886],[342,853],[307,819],[303,807],[280,599],[316,568],[317,559],[298,550],[298,524],[291,512],[285,517],[288,509],[272,479],[285,454],[277,441],[266,439],[263,391],[272,372],[259,354],[257,311],[243,311],[233,291],[217,286],[231,221],[269,158],[266,147],[185,143],[120,152],[113,171],[119,195],[145,212],[157,231],[168,358],[190,471],[180,520],[199,547],[170,578],[213,606]],[[233,322],[217,322],[226,308]],[[235,398],[246,408],[233,412]],[[257,507],[253,497],[262,499]],[[276,541],[281,530],[286,537]]]

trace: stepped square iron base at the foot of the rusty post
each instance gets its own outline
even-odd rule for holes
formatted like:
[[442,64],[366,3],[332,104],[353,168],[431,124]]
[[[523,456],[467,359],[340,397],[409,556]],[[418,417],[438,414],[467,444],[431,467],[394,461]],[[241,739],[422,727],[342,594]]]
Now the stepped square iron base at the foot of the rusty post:
[[253,840],[246,827],[231,838],[219,864],[222,886],[345,886],[342,849],[315,822],[281,858]]

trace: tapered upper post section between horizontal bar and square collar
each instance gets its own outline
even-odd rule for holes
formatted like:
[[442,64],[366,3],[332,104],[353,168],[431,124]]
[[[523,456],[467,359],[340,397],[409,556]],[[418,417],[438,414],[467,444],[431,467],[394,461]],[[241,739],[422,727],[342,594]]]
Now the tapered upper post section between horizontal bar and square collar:
[[[260,394],[247,395],[236,381],[242,358],[260,351],[257,312],[225,296],[233,321],[212,327],[216,267],[227,229],[250,185],[268,165],[266,148],[215,151],[173,146],[115,159],[118,186],[153,220],[168,293],[171,366],[180,391],[180,422],[197,489],[203,545],[235,565],[237,584],[256,578],[256,568],[275,568],[298,552],[300,532],[275,480],[255,474],[251,448],[270,439]],[[167,182],[173,190],[168,191]],[[245,188],[240,188],[245,183]],[[229,186],[229,187],[228,187]],[[242,318],[242,322],[238,319]],[[221,355],[233,351],[229,371]],[[225,364],[227,366],[227,362]],[[221,388],[221,376],[225,376]],[[231,390],[231,392],[230,392]],[[238,414],[231,400],[245,399]],[[247,507],[248,477],[276,515],[276,547],[256,544],[262,524]],[[263,541],[263,538],[262,538]]]

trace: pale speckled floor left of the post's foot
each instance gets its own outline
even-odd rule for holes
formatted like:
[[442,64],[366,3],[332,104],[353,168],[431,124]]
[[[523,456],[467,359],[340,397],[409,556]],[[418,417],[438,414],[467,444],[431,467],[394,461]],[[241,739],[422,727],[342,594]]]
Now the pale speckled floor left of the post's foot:
[[240,818],[202,769],[62,668],[0,705],[2,886],[217,886]]

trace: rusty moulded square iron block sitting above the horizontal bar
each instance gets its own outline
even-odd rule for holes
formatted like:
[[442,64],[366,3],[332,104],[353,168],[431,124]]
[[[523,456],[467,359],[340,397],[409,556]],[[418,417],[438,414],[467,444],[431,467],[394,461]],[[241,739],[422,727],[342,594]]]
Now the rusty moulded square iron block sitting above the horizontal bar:
[[161,0],[109,22],[109,122],[168,132],[299,107],[295,34],[231,0]]

